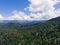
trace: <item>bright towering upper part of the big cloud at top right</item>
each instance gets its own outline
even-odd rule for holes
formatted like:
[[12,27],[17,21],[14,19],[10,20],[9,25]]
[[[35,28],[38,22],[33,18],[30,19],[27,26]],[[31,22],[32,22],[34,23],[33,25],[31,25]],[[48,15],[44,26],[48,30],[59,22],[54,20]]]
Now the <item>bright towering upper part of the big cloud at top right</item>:
[[60,0],[29,0],[30,5],[27,7],[31,12],[54,10],[54,5]]

